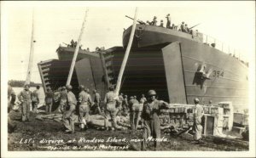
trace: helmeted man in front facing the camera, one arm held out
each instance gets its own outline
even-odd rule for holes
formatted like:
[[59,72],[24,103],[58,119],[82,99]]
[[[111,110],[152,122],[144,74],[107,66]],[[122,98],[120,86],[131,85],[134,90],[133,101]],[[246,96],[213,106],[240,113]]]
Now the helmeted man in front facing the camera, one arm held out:
[[146,149],[146,140],[149,137],[156,138],[154,141],[155,150],[160,148],[160,141],[157,141],[157,139],[160,138],[160,109],[169,108],[169,104],[162,100],[157,100],[155,97],[156,92],[154,90],[149,90],[148,101],[143,105],[143,150]]

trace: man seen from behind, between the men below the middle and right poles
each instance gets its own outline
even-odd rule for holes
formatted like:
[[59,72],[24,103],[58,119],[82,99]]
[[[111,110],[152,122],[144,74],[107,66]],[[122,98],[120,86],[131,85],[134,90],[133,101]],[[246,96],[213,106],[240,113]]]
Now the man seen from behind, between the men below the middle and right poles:
[[90,121],[91,99],[90,94],[84,91],[84,85],[80,85],[79,90],[79,121],[81,123],[81,130],[83,130]]

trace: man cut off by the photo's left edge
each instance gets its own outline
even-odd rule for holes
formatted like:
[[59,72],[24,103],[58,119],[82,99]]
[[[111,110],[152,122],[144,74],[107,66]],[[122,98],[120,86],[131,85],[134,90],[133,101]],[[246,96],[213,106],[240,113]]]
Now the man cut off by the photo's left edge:
[[[8,82],[8,113],[10,110],[12,110],[16,100],[16,94],[13,88],[10,86],[10,83]],[[11,120],[11,118],[8,115],[8,132],[12,133],[15,130],[15,124]]]

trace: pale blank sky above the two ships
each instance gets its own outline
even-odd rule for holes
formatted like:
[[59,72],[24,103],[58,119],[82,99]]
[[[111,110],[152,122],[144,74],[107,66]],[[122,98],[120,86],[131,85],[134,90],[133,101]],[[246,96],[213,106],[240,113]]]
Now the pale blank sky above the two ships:
[[[3,59],[8,80],[26,80],[26,71],[32,37],[32,10],[34,10],[34,58],[32,82],[41,82],[38,62],[57,59],[55,50],[62,42],[77,41],[89,8],[81,43],[83,48],[112,48],[122,46],[122,32],[132,25],[125,15],[134,16],[138,7],[139,20],[164,20],[171,14],[172,23],[182,21],[218,42],[226,50],[254,64],[255,52],[255,2],[254,1],[149,1],[149,2],[2,2]],[[238,53],[239,52],[239,53]],[[7,54],[7,55],[5,55]],[[252,58],[253,57],[253,58]],[[4,66],[2,66],[3,68]],[[4,67],[5,68],[5,67]]]

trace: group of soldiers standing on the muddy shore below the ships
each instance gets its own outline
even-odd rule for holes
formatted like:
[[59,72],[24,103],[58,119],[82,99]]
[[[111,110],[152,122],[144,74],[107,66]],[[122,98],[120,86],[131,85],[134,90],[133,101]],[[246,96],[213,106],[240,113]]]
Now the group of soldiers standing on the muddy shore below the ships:
[[[22,113],[22,121],[29,121],[29,113],[30,113],[30,104],[32,103],[32,110],[35,112],[38,108],[39,98],[38,98],[38,90],[31,92],[29,90],[29,85],[25,85],[24,90],[20,92],[18,95],[18,99],[21,104],[21,113]],[[95,93],[94,102],[92,102],[90,93],[88,88],[85,88],[83,85],[79,86],[79,97],[76,99],[74,93],[72,92],[73,87],[71,85],[67,85],[66,87],[59,88],[59,111],[62,113],[62,122],[64,127],[66,128],[65,133],[74,133],[74,122],[75,122],[75,112],[79,109],[79,121],[81,130],[86,129],[88,122],[90,122],[90,107],[91,105],[96,106],[96,111],[98,114],[102,114],[102,110],[104,110],[103,116],[105,116],[105,129],[108,130],[108,121],[109,117],[111,118],[111,130],[118,129],[116,124],[116,116],[119,115],[120,111],[127,114],[130,113],[130,121],[131,121],[131,130],[136,130],[138,126],[139,120],[141,120],[143,127],[143,142],[142,142],[142,150],[146,150],[147,148],[147,139],[148,137],[153,137],[156,139],[154,141],[154,147],[156,150],[160,149],[160,110],[170,108],[170,104],[166,103],[163,100],[157,99],[157,93],[154,90],[149,90],[147,93],[147,98],[144,94],[142,94],[141,99],[137,100],[136,96],[131,96],[128,100],[127,95],[123,95],[122,93],[119,96],[114,93],[114,87],[110,86],[108,93],[106,93],[104,98],[104,108],[102,108],[101,104],[101,96]],[[12,104],[15,104],[15,93],[12,87],[8,87],[8,99],[10,110]],[[45,104],[48,108],[46,108],[47,112],[51,112],[51,106],[54,101],[54,93],[50,88],[47,89],[45,93]],[[141,110],[136,110],[137,106],[142,105]],[[201,117],[203,116],[203,108],[199,104],[199,99],[195,99],[195,113],[194,113],[194,126],[193,131],[195,132],[194,138],[196,141],[201,141]],[[9,119],[9,124],[11,124],[11,120]]]

